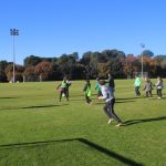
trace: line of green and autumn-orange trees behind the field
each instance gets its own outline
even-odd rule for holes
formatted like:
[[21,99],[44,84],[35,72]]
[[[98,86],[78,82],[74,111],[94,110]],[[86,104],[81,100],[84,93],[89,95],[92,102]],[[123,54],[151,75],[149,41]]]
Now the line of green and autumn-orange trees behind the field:
[[[133,77],[134,73],[142,71],[151,77],[166,76],[166,55],[154,55],[145,50],[141,55],[125,54],[118,50],[104,50],[102,52],[85,52],[79,59],[77,52],[62,54],[59,58],[41,58],[29,55],[23,65],[15,64],[15,81],[54,81],[68,76],[71,80],[105,79],[111,72],[115,79]],[[0,61],[0,82],[12,81],[13,63]]]

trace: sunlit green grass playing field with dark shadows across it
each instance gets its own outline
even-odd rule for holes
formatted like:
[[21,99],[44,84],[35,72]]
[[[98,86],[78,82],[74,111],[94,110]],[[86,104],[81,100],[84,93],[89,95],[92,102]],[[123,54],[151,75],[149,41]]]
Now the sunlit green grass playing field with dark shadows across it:
[[165,166],[166,94],[135,97],[133,82],[115,81],[122,127],[107,125],[94,81],[92,105],[84,81],[61,103],[58,82],[0,84],[0,166]]

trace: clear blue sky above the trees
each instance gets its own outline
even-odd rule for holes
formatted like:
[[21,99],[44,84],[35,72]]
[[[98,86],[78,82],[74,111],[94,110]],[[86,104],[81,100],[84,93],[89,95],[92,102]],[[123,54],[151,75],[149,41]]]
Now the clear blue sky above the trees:
[[[117,49],[166,54],[166,0],[1,0],[0,61]],[[10,29],[19,35],[10,35]]]

